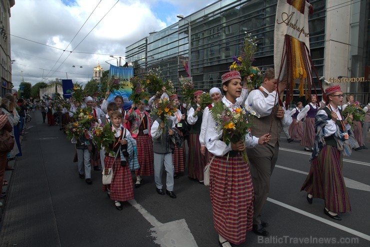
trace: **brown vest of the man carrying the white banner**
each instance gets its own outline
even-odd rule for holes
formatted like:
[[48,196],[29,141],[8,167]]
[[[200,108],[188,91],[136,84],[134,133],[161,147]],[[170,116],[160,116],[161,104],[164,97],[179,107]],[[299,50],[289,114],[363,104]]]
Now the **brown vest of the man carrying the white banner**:
[[[260,91],[265,97],[268,96],[268,94],[265,91],[263,90]],[[275,105],[274,107],[272,107],[271,114],[269,114],[268,116],[263,116],[259,118],[255,117],[253,119],[253,125],[250,127],[251,134],[256,137],[260,137],[263,134],[266,134],[271,126],[271,131],[269,133],[271,135],[271,139],[268,142],[268,145],[271,146],[275,146],[276,142],[279,141],[280,132],[282,130],[281,120],[276,116],[276,111],[277,107]]]

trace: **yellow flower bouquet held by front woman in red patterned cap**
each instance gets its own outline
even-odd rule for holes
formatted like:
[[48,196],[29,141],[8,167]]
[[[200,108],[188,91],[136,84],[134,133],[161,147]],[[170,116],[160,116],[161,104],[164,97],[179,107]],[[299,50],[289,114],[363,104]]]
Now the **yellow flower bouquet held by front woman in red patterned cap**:
[[[248,122],[248,112],[243,108],[230,110],[222,102],[217,102],[209,109],[210,114],[216,122],[216,127],[222,130],[223,141],[228,145],[239,140],[245,140],[249,134],[252,123]],[[245,149],[241,151],[244,162],[248,162]],[[227,155],[228,158],[228,155]]]

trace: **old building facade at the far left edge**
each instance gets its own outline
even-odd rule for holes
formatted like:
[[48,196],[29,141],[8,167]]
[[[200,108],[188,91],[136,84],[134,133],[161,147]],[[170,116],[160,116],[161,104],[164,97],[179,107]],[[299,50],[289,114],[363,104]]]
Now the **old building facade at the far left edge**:
[[0,0],[0,96],[11,92],[11,55],[10,55],[10,8],[14,6],[15,0]]

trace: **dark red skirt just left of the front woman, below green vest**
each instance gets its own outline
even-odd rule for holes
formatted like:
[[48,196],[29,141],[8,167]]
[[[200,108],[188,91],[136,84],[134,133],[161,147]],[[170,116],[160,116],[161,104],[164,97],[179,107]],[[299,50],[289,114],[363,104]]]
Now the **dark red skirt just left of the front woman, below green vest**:
[[189,135],[189,153],[187,159],[187,173],[190,178],[202,181],[205,157],[200,152],[199,134]]

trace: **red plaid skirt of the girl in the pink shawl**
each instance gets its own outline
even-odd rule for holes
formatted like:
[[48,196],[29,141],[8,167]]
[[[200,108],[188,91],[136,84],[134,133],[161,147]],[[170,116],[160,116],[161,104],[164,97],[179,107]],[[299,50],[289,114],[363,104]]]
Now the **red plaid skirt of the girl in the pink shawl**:
[[139,162],[140,165],[140,168],[135,170],[135,175],[151,176],[154,174],[153,140],[149,135],[137,135],[135,139],[136,139],[137,161]]

